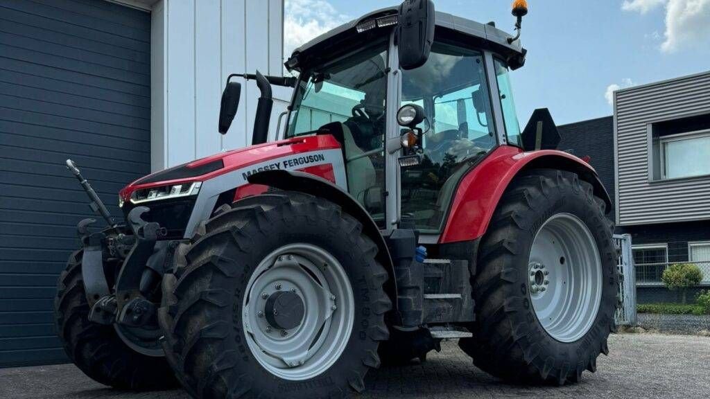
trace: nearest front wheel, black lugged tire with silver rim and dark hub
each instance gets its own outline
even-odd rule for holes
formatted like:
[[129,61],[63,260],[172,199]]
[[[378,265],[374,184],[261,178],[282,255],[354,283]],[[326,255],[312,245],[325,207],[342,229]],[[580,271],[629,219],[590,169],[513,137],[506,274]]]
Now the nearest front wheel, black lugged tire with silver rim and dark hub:
[[221,211],[163,280],[164,347],[187,391],[305,399],[363,390],[391,302],[361,224],[295,192]]

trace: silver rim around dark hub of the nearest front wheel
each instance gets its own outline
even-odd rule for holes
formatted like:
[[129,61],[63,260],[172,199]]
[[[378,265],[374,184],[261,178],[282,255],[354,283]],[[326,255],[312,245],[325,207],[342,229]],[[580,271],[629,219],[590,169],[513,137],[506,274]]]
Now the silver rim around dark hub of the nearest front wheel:
[[[289,329],[265,316],[268,298],[295,293],[304,313]],[[349,341],[355,301],[342,265],[312,244],[282,246],[259,263],[242,303],[246,341],[256,360],[274,376],[302,381],[319,376],[339,359]]]

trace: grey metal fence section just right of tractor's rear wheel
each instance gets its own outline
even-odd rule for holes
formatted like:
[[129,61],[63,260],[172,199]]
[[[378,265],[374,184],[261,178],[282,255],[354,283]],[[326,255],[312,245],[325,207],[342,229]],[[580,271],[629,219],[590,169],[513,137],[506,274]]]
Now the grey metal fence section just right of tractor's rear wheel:
[[617,268],[619,272],[619,307],[616,310],[616,325],[636,324],[636,273],[633,267],[631,236],[615,234],[614,241],[621,249]]

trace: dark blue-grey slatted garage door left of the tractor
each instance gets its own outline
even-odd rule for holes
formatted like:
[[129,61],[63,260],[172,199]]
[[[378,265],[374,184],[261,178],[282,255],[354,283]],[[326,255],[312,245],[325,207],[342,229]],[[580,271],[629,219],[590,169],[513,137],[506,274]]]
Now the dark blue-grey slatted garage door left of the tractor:
[[150,169],[149,13],[103,0],[0,0],[0,366],[65,361],[55,283],[87,199],[109,210]]

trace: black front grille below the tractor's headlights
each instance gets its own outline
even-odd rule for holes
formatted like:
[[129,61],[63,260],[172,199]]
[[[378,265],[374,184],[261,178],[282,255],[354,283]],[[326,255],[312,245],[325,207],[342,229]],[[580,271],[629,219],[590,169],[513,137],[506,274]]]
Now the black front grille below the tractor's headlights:
[[168,230],[165,239],[182,239],[185,235],[185,227],[190,220],[192,208],[195,207],[195,197],[177,198],[174,200],[156,200],[155,202],[145,202],[143,204],[131,204],[126,202],[123,207],[124,217],[128,222],[129,212],[137,206],[148,207],[150,212],[143,214],[146,222],[157,222],[161,227]]

